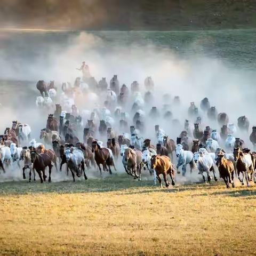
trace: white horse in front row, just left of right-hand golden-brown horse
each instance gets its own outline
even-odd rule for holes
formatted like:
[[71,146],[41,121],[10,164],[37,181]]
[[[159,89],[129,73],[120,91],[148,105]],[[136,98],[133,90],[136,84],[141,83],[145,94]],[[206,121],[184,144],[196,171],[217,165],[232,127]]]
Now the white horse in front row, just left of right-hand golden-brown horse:
[[212,179],[210,171],[213,172],[214,180],[217,181],[217,177],[215,175],[215,170],[214,170],[214,162],[210,155],[203,154],[202,152],[195,152],[194,161],[197,164],[197,168],[199,172],[202,174],[204,182],[206,182],[204,172],[207,173],[208,181]]

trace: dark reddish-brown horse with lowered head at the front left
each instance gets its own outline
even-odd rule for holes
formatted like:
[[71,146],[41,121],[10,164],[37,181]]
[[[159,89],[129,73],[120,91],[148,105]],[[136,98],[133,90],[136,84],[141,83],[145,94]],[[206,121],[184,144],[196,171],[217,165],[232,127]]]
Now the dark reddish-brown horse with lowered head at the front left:
[[[52,160],[51,157],[47,153],[38,154],[35,150],[30,152],[31,162],[33,163],[33,168],[37,171],[41,183],[46,181],[45,168],[49,167],[49,179],[51,182],[51,172],[52,172]],[[43,177],[42,177],[43,173]]]

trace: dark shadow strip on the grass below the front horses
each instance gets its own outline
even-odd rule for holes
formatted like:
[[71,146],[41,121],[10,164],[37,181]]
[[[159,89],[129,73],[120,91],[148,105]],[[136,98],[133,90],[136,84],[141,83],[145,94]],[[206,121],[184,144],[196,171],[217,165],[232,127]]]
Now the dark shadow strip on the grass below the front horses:
[[[164,186],[164,183],[163,183]],[[182,186],[182,187],[181,187]],[[188,184],[188,185],[170,185],[169,188],[161,189],[159,183],[153,186],[153,181],[150,180],[134,180],[125,174],[114,174],[113,176],[99,179],[84,178],[77,179],[75,182],[60,181],[60,182],[44,182],[39,180],[28,182],[25,181],[10,181],[0,183],[0,195],[25,195],[36,193],[105,193],[109,191],[117,191],[118,194],[132,195],[132,194],[147,194],[155,191],[164,193],[177,193],[178,191],[202,189],[203,184]],[[210,188],[211,186],[209,186]],[[206,188],[207,189],[207,188]]]

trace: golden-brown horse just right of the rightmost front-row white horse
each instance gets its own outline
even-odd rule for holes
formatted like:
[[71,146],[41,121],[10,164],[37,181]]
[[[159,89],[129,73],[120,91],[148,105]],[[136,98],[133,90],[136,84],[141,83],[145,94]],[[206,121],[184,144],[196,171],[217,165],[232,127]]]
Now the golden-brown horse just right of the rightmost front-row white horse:
[[227,188],[230,188],[229,183],[231,183],[234,188],[234,164],[223,156],[223,154],[218,154],[216,162],[220,172],[220,177],[225,181]]

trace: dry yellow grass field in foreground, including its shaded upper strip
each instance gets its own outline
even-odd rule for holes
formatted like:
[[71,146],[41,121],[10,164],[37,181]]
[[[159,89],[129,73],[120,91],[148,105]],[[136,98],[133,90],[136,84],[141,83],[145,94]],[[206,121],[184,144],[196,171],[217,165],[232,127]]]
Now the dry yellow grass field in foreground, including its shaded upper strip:
[[255,255],[256,187],[0,183],[1,255]]

